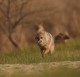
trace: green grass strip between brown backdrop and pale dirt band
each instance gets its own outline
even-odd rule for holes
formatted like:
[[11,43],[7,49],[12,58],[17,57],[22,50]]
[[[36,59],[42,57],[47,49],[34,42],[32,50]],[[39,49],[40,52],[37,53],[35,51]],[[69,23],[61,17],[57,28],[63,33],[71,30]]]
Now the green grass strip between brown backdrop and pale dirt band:
[[31,64],[54,61],[80,61],[80,39],[71,39],[67,44],[55,46],[55,53],[42,58],[38,46],[12,52],[0,52],[0,64]]

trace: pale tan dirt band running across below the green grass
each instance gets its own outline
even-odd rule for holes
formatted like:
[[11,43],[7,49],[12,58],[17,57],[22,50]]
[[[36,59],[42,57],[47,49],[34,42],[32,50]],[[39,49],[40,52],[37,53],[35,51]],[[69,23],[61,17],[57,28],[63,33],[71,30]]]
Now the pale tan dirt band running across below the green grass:
[[80,70],[80,61],[64,61],[64,62],[50,62],[50,63],[39,63],[39,64],[0,64],[0,71],[8,74],[13,74],[14,72],[23,71],[27,74],[30,73],[40,73],[41,71],[47,69],[55,69],[58,67],[68,67]]

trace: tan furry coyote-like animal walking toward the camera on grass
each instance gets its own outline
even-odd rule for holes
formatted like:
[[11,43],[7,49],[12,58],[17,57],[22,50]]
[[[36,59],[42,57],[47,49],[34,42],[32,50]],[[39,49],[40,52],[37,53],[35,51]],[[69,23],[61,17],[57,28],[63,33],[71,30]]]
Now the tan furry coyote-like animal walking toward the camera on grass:
[[36,26],[35,40],[41,49],[42,57],[54,52],[54,39],[49,32],[46,32],[42,25]]

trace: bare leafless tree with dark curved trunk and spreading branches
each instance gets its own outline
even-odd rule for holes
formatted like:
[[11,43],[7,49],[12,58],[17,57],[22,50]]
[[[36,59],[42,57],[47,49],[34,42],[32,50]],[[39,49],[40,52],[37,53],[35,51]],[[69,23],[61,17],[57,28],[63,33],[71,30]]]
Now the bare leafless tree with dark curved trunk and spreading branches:
[[0,30],[8,37],[15,48],[19,48],[19,45],[14,41],[12,34],[17,26],[27,23],[25,20],[27,16],[53,9],[38,9],[36,11],[26,9],[31,2],[32,0],[0,0]]

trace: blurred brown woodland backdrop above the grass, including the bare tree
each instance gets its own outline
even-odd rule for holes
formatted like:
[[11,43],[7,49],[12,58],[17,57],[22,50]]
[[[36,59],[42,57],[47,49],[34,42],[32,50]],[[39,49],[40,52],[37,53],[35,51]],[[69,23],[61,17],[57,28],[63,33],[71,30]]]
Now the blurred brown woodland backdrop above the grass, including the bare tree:
[[36,23],[80,37],[80,0],[0,0],[0,51],[35,44]]

